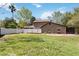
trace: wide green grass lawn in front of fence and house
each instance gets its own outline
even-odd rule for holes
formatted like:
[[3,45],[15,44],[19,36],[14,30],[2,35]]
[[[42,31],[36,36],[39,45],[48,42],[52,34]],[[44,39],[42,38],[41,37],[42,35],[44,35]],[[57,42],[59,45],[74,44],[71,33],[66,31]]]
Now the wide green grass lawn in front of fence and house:
[[0,55],[79,56],[79,36],[13,34],[0,41]]

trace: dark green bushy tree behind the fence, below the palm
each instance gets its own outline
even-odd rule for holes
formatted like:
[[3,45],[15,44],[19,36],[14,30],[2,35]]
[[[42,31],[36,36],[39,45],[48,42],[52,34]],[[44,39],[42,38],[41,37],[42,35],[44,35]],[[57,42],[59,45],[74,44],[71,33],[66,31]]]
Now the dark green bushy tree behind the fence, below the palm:
[[17,28],[17,23],[12,18],[6,17],[3,23],[5,28]]

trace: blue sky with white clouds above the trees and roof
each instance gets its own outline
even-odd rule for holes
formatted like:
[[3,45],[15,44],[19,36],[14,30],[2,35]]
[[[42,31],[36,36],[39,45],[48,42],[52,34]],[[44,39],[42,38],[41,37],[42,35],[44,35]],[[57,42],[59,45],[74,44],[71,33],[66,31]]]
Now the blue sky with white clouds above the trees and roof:
[[[10,3],[0,3],[0,19],[11,17],[9,5]],[[75,7],[79,7],[79,3],[15,3],[15,7],[17,10],[25,7],[32,11],[32,16],[47,19],[54,11],[62,13],[73,11]]]

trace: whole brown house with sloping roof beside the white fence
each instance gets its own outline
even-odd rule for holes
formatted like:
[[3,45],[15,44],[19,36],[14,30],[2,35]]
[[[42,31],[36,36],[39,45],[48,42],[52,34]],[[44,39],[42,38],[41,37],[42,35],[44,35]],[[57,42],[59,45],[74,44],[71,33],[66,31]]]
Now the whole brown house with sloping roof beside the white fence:
[[34,21],[35,28],[40,28],[42,33],[66,34],[66,26],[50,21]]

